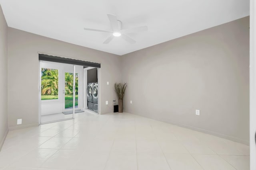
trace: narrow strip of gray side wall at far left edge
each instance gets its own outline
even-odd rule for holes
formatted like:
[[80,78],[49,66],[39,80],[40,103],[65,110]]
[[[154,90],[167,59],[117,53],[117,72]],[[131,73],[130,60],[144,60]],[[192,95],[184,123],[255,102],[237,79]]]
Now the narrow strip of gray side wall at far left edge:
[[7,24],[0,6],[0,149],[8,132],[7,124]]

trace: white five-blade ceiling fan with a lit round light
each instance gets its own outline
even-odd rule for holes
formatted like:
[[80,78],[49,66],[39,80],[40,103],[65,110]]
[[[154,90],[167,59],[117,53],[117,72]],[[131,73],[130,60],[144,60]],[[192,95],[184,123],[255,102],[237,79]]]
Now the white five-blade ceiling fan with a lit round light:
[[110,25],[112,27],[112,31],[84,28],[84,30],[88,30],[88,31],[99,31],[99,32],[111,33],[111,35],[103,42],[104,44],[108,44],[114,37],[120,37],[120,36],[128,43],[134,44],[136,43],[136,41],[132,39],[130,36],[128,36],[127,33],[136,33],[136,32],[148,30],[147,26],[122,29],[122,22],[120,20],[117,20],[117,17],[115,15],[113,14],[107,14],[107,15],[110,21]]

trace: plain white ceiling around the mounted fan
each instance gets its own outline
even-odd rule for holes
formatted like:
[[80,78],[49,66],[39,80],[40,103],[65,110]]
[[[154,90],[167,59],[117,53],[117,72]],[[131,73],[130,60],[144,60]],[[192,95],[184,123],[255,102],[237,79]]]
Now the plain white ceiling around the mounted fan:
[[[249,0],[0,0],[9,27],[76,45],[124,55],[249,15]],[[107,14],[122,21],[123,29],[148,26],[130,34],[135,44],[109,33]]]

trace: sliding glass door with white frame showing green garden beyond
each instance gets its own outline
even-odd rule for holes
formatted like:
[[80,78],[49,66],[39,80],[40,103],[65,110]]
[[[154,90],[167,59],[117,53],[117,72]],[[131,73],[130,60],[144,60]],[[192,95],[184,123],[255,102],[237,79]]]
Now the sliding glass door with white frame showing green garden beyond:
[[78,108],[76,66],[40,61],[40,70],[40,124],[72,119]]

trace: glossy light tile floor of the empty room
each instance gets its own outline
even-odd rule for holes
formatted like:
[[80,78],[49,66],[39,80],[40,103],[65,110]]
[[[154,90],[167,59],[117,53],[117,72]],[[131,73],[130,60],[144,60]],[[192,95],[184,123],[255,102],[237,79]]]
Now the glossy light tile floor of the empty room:
[[249,170],[246,145],[129,113],[9,131],[0,170]]

